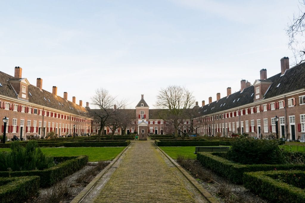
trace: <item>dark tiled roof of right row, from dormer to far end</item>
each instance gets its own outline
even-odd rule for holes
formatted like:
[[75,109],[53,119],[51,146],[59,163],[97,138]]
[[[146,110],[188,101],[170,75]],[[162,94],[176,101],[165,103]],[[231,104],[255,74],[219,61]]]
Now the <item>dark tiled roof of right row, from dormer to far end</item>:
[[245,88],[242,92],[235,92],[228,97],[223,97],[218,101],[214,101],[212,103],[207,104],[198,109],[198,113],[200,116],[206,114],[213,114],[216,112],[225,111],[231,108],[239,107],[248,103],[253,102],[254,97],[254,87],[249,86]]

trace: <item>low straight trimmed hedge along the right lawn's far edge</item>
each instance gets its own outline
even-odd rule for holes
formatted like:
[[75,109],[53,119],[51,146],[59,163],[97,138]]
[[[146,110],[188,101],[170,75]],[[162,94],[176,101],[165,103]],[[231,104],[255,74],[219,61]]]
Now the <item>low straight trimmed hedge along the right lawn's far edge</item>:
[[157,146],[219,146],[219,141],[205,140],[155,140]]

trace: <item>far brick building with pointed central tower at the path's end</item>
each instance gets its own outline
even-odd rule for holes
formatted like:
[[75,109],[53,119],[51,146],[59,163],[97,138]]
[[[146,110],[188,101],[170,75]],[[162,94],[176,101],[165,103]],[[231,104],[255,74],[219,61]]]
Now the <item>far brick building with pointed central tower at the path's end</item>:
[[[199,106],[198,106],[199,107]],[[114,107],[115,108],[115,107]],[[97,110],[97,109],[93,109]],[[117,111],[128,111],[128,114],[133,115],[126,128],[125,134],[137,133],[138,135],[164,135],[172,133],[172,125],[160,118],[161,109],[149,109],[148,104],[144,100],[144,95],[141,95],[141,100],[136,105],[135,109],[117,109]],[[99,121],[92,121],[92,134],[98,134],[100,130]],[[184,121],[182,132],[188,132],[188,126],[191,125],[190,120]],[[104,134],[112,134],[112,127],[106,126]],[[121,128],[117,128],[114,132],[115,135],[122,135]]]

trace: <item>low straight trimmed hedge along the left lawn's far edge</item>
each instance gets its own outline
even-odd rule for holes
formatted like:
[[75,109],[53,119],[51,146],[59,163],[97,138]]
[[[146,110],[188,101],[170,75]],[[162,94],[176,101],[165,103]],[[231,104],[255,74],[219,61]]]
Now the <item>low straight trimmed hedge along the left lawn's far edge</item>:
[[64,142],[65,147],[125,147],[130,144],[130,140],[121,142]]

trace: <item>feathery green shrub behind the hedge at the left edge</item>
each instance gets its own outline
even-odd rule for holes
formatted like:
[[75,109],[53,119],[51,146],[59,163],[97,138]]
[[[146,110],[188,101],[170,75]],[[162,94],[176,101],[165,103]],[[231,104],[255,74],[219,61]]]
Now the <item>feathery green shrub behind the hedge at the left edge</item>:
[[53,157],[47,157],[38,148],[36,141],[29,141],[26,147],[21,147],[18,141],[10,146],[11,152],[0,153],[0,170],[9,168],[13,171],[43,170],[54,166]]

